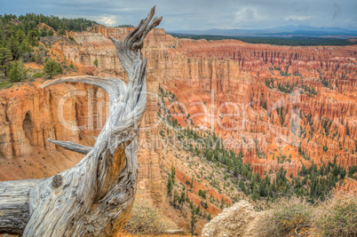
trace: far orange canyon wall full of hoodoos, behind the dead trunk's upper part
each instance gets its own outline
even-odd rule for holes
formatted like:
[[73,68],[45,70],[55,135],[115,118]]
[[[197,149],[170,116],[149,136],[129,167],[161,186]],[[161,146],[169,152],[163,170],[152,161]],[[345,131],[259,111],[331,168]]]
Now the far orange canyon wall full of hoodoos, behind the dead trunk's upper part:
[[[75,34],[83,47],[68,47],[65,55],[87,66],[99,59],[99,67],[123,75],[107,36],[123,40],[131,30],[99,27]],[[163,87],[188,114],[205,114],[196,116],[195,124],[234,139],[235,151],[260,175],[283,166],[295,176],[303,164],[335,158],[346,168],[357,164],[356,46],[194,41],[163,29],[150,34],[145,45],[147,65]]]

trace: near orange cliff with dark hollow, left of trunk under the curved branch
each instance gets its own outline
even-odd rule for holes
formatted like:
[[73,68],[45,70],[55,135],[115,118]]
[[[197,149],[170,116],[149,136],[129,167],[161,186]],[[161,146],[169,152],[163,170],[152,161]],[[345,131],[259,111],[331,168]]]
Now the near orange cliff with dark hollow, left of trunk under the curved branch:
[[[46,138],[72,140],[92,145],[77,125],[87,126],[88,116],[76,113],[83,108],[78,91],[98,91],[71,84],[39,89],[39,83],[22,83],[0,91],[1,180],[50,177],[75,165],[83,155],[68,153]],[[104,112],[102,112],[104,113]],[[98,129],[98,128],[97,128]],[[89,134],[88,134],[89,135]]]

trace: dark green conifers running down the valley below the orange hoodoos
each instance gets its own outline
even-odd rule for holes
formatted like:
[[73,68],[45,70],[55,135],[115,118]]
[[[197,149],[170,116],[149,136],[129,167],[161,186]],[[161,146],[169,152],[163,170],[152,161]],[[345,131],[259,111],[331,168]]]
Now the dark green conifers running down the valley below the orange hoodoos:
[[[223,168],[226,171],[226,175],[229,175],[234,181],[238,191],[242,191],[247,196],[250,196],[253,201],[274,201],[280,197],[293,194],[304,197],[311,203],[319,200],[323,201],[326,195],[337,185],[337,182],[341,182],[346,176],[347,171],[345,168],[337,165],[335,159],[334,162],[323,164],[319,168],[314,163],[308,168],[303,165],[302,169],[298,170],[298,177],[291,179],[286,178],[287,171],[283,170],[282,167],[276,173],[273,180],[271,180],[270,176],[260,178],[257,173],[253,173],[250,163],[243,163],[242,153],[235,154],[233,150],[228,150],[223,146],[222,138],[219,138],[218,134],[210,131],[202,132],[191,126],[181,127],[174,117],[174,111],[177,108],[171,107],[174,111],[168,111],[168,109],[164,107],[165,99],[169,102],[178,101],[174,94],[170,91],[164,91],[163,88],[159,86],[159,98],[162,99],[162,103],[159,103],[162,110],[158,115],[163,116],[166,124],[170,125],[169,127],[177,130],[175,134],[181,142],[182,148],[193,156],[199,156],[215,164],[217,167]],[[278,107],[276,108],[276,112],[281,118],[281,125],[283,125],[285,116],[288,114],[288,109]],[[313,129],[312,117],[307,115],[306,120]],[[326,147],[323,148],[323,150],[328,151]],[[302,155],[305,160],[310,160],[310,156],[305,154],[301,146],[298,147],[298,153]],[[289,157],[288,159],[286,154],[276,156],[275,159],[277,159],[278,163],[291,161],[291,158]],[[191,182],[187,180],[186,183],[189,183],[191,188],[193,187],[193,180]],[[222,192],[220,182],[217,178],[210,176],[210,184],[216,187],[218,192]],[[223,182],[222,186],[225,187],[225,182]],[[202,191],[198,194],[202,197]],[[222,207],[224,207],[224,205]]]

